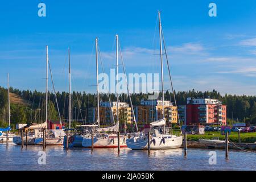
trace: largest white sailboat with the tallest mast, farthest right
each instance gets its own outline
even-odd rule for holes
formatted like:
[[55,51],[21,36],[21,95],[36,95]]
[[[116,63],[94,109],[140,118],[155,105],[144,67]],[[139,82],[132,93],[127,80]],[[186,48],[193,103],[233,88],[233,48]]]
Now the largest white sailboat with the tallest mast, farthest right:
[[[159,37],[160,37],[160,61],[161,61],[161,76],[162,76],[162,110],[163,118],[150,123],[150,148],[154,149],[170,149],[179,148],[183,143],[183,137],[172,134],[166,134],[165,126],[166,120],[164,119],[164,81],[163,81],[163,53],[162,53],[162,24],[159,16]],[[175,101],[176,102],[176,101]],[[126,139],[127,147],[133,150],[147,150],[148,147],[148,134],[139,133],[138,136]]]

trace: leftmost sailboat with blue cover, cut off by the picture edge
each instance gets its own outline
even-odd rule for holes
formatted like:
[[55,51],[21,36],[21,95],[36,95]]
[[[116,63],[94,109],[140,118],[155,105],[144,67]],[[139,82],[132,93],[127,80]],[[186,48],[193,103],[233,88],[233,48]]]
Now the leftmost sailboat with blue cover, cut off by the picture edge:
[[[11,119],[10,119],[10,85],[9,85],[9,73],[8,73],[8,118],[9,118],[9,126],[6,128],[0,128],[0,143],[6,142],[13,142],[13,138],[16,137],[15,134],[11,134]],[[3,133],[5,132],[5,133]]]

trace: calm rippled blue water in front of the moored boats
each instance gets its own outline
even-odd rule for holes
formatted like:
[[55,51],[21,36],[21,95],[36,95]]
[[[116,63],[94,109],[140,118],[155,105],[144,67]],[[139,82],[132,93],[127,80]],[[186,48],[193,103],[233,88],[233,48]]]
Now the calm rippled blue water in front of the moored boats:
[[210,165],[208,149],[188,148],[184,158],[183,149],[151,151],[133,151],[121,148],[70,149],[62,146],[47,146],[46,164],[38,164],[38,151],[41,146],[20,146],[11,144],[6,148],[0,144],[0,170],[256,170],[256,152],[230,151],[229,160],[225,160],[224,150],[217,153],[217,164]]

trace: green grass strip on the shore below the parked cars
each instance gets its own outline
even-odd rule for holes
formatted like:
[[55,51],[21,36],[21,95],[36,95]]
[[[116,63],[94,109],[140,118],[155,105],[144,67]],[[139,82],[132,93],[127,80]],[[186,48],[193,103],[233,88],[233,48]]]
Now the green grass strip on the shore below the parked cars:
[[[241,142],[242,143],[254,143],[256,142],[256,132],[254,133],[241,133]],[[204,135],[187,135],[188,140],[198,141],[199,139],[214,139],[219,138],[220,140],[225,140],[225,135],[221,135],[220,132],[217,131],[205,131]],[[231,132],[229,135],[229,139],[232,142],[238,142],[238,133]]]

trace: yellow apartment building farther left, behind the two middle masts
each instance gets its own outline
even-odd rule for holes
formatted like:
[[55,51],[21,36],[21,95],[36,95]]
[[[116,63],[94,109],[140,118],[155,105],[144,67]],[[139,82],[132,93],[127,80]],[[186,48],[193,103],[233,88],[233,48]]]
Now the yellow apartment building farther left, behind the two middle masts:
[[[112,111],[111,111],[112,109]],[[131,107],[126,102],[118,102],[119,123],[131,123],[133,121],[133,114]],[[117,121],[117,102],[100,102],[100,122],[101,125],[109,125],[113,123],[112,112],[115,122]]]

